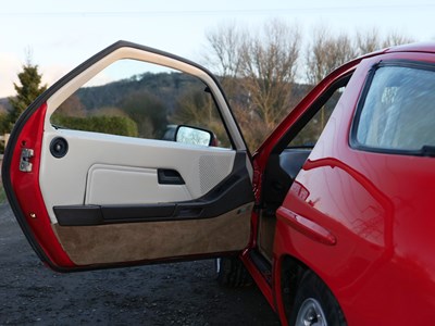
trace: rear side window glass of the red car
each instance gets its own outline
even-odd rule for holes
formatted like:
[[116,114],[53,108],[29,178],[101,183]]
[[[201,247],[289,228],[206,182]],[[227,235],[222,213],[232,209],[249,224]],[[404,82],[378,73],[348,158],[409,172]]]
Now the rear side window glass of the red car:
[[435,72],[415,63],[380,65],[360,102],[352,140],[373,151],[435,152]]

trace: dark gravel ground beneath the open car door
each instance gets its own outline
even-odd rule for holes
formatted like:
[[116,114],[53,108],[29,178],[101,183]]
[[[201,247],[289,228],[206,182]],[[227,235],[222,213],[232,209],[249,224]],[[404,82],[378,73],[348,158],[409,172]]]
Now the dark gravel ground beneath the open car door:
[[213,261],[58,274],[0,205],[0,325],[279,325],[257,287],[227,289]]

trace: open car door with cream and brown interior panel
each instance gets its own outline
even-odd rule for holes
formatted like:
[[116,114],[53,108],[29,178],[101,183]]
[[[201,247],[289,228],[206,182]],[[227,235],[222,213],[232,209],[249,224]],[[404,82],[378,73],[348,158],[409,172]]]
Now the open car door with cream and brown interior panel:
[[[125,62],[152,68],[142,73],[123,66]],[[111,80],[117,63],[123,68],[114,74],[124,75],[101,86],[100,80]],[[159,88],[157,79],[163,77],[173,86],[165,82]],[[195,87],[208,97],[199,101],[204,108],[191,100],[197,97],[186,98],[197,93]],[[96,100],[98,89],[104,95]],[[112,105],[129,111],[103,108],[110,98]],[[213,106],[216,113],[202,114],[206,122],[192,118],[186,114],[189,103],[201,110]],[[82,115],[71,114],[78,106],[86,106]],[[148,120],[137,113],[141,108]],[[91,117],[83,116],[90,111]],[[113,111],[117,113],[105,120],[98,117]],[[177,142],[169,117],[198,128],[220,121],[222,127],[211,130],[213,146]],[[112,134],[110,124],[120,121],[134,121],[134,131]],[[84,128],[89,122],[96,126]],[[5,150],[2,178],[39,258],[67,272],[243,250],[253,203],[250,164],[225,97],[208,71],[120,41],[63,77],[23,113]]]

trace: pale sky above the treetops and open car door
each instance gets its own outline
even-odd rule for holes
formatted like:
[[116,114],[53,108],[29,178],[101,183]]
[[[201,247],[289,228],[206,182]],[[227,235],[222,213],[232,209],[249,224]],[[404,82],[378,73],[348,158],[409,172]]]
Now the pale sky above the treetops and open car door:
[[332,33],[377,28],[435,40],[433,0],[3,0],[0,5],[0,98],[27,58],[49,86],[83,61],[123,39],[204,63],[206,34],[235,23],[250,30],[278,18],[297,24],[304,41],[315,26]]

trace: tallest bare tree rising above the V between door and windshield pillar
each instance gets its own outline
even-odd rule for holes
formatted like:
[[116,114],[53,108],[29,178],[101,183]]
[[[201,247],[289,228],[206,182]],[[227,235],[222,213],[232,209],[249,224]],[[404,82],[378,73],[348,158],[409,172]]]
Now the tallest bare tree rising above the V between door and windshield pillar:
[[250,113],[258,115],[264,136],[289,112],[300,51],[300,33],[279,21],[246,39],[240,50],[240,75]]

